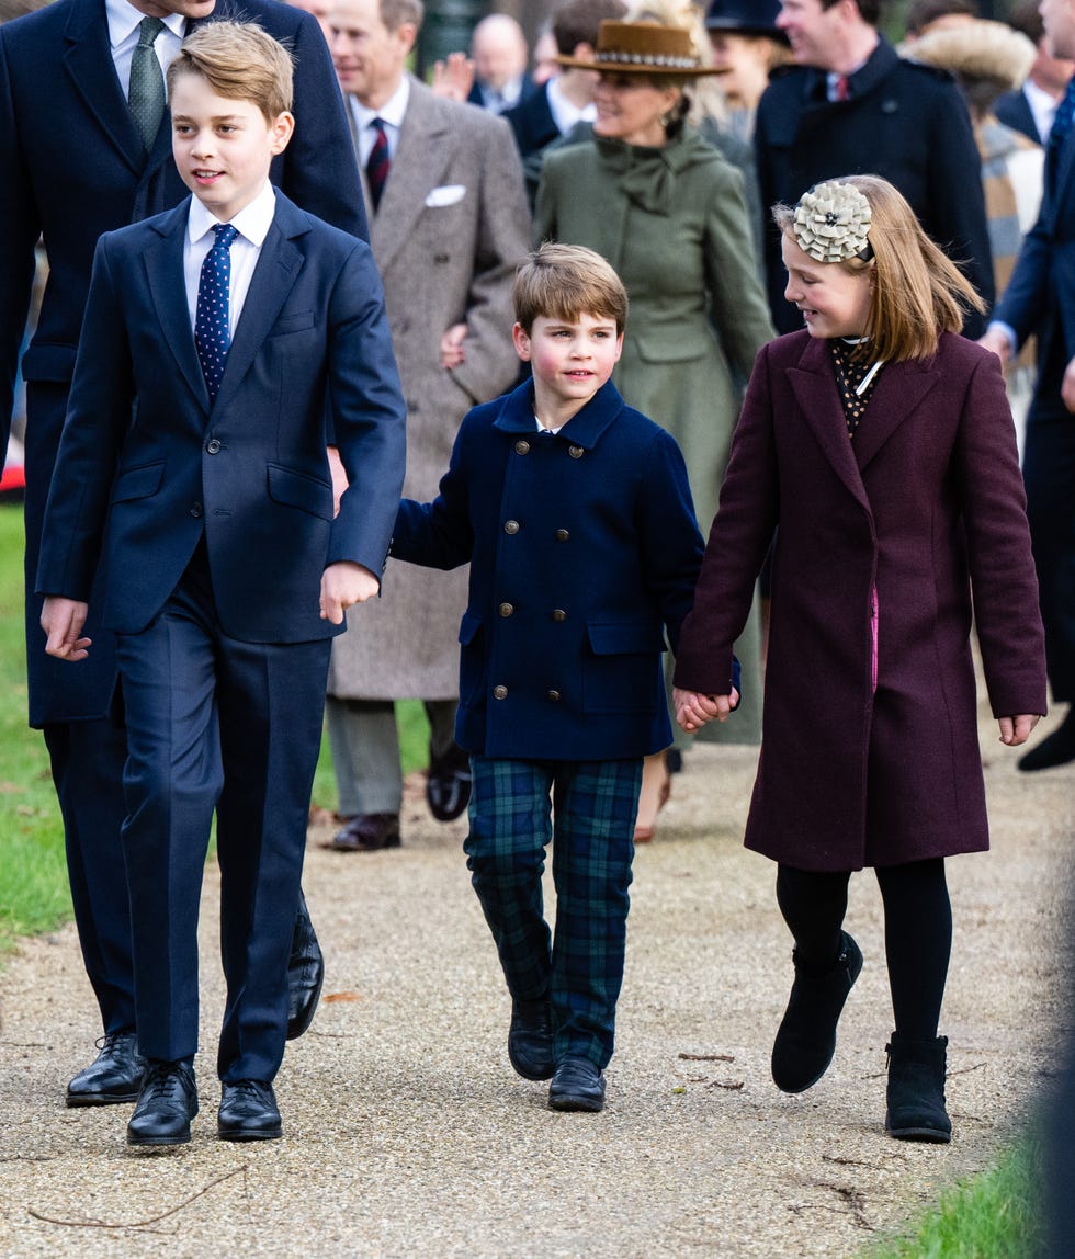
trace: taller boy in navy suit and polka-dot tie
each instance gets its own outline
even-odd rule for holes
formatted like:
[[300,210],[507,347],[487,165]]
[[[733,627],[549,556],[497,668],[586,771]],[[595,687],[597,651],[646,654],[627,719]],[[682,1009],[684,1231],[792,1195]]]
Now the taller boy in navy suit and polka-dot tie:
[[[213,813],[228,1001],[218,1132],[281,1134],[272,1080],[331,638],[376,594],[404,405],[369,247],[268,181],[292,65],[213,23],[169,67],[193,190],[97,247],[45,512],[47,651],[82,660],[91,585],[117,635],[138,1047],[127,1141],[190,1139],[198,903]],[[350,488],[334,519],[326,399]]]

